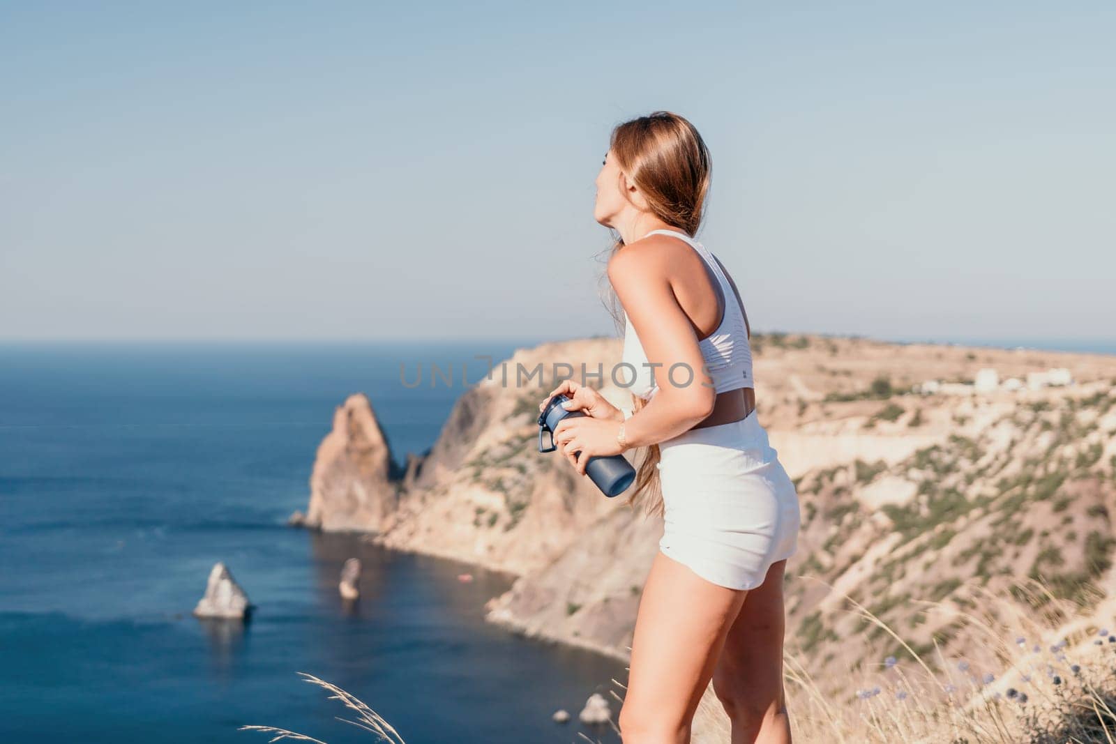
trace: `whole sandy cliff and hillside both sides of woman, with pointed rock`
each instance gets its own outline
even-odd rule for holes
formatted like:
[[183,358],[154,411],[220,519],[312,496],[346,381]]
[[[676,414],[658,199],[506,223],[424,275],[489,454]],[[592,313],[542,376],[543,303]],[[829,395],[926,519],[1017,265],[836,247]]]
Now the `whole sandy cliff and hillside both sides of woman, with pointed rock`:
[[[865,339],[758,336],[759,419],[796,479],[804,511],[788,568],[788,648],[818,678],[893,651],[849,612],[852,597],[904,638],[947,650],[978,644],[949,611],[972,588],[1049,577],[1056,591],[1113,583],[1116,548],[1116,358]],[[555,453],[537,451],[550,366],[619,358],[616,339],[520,349],[547,375],[499,376],[466,392],[430,455],[396,483],[359,402],[338,410],[315,467],[311,518],[377,530],[375,541],[511,571],[490,620],[626,657],[662,522],[604,497]],[[929,378],[1069,368],[1077,385],[975,396],[917,395]],[[607,383],[607,375],[606,375]],[[606,396],[627,405],[626,390]],[[369,497],[369,494],[383,494]],[[395,495],[397,494],[397,495]],[[626,495],[626,494],[625,494]],[[393,501],[394,499],[394,501]],[[954,615],[955,617],[955,615]],[[839,641],[839,642],[834,642]]]

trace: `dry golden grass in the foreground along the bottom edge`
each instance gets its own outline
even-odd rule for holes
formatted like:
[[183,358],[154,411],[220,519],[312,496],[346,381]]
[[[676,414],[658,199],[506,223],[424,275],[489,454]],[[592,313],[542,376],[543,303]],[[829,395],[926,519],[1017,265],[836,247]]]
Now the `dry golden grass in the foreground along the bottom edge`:
[[[977,586],[970,589],[978,593]],[[905,653],[881,659],[867,671],[849,669],[841,685],[810,676],[809,664],[786,657],[788,708],[795,741],[827,744],[1116,744],[1116,624],[1093,617],[1067,600],[1056,599],[1041,583],[1018,584],[1017,593],[1033,603],[984,593],[983,611],[963,611],[943,602],[922,602],[927,611],[952,613],[979,631],[980,649],[966,658],[950,657],[935,645],[920,657],[898,634],[846,597],[847,610],[878,625]],[[1039,601],[1041,600],[1041,601]],[[1041,610],[1036,607],[1041,606]],[[339,718],[377,736],[405,744],[402,736],[354,695],[312,675],[319,685],[354,711],[356,721]],[[619,689],[623,683],[612,680]],[[610,692],[618,704],[623,696]],[[613,729],[618,728],[609,722]],[[271,726],[241,731],[318,742]],[[578,736],[593,742],[581,733]],[[709,687],[694,719],[694,744],[727,744],[728,718]],[[599,743],[598,743],[599,744]]]

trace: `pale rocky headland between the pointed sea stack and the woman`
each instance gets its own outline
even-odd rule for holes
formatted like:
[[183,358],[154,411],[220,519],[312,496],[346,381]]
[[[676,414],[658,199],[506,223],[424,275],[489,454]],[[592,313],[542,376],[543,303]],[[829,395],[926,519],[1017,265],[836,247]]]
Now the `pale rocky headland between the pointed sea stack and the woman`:
[[[617,352],[613,339],[517,350],[507,383],[498,367],[461,396],[374,542],[526,574],[552,564],[602,520],[632,519],[620,499],[605,497],[557,453],[538,451],[538,405],[557,385],[555,363],[607,368]],[[541,376],[517,380],[519,366],[539,365]]]

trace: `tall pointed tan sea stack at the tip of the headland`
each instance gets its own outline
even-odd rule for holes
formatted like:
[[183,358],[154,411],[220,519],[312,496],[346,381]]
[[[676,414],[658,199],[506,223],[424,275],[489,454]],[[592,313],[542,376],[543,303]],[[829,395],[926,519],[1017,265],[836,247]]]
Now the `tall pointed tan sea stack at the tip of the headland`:
[[402,480],[372,403],[363,393],[350,395],[318,446],[306,526],[378,532],[395,511]]

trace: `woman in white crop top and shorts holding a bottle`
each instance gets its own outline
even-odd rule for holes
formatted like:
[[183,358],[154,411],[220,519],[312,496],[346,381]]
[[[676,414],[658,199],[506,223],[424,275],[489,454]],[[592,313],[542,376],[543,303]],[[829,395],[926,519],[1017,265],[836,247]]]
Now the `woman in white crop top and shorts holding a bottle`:
[[[573,380],[555,432],[581,474],[589,457],[646,447],[629,504],[664,516],[639,600],[624,705],[625,744],[690,741],[710,679],[732,743],[790,742],[782,687],[787,558],[799,529],[793,483],[756,418],[751,335],[740,292],[693,239],[710,158],[685,118],[655,112],[617,126],[594,216],[618,232],[608,279],[624,308],[631,416]],[[730,291],[731,288],[731,291]],[[546,400],[540,409],[546,406]]]

